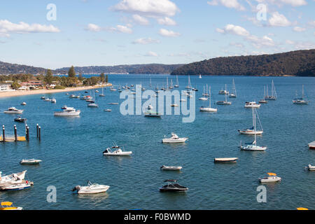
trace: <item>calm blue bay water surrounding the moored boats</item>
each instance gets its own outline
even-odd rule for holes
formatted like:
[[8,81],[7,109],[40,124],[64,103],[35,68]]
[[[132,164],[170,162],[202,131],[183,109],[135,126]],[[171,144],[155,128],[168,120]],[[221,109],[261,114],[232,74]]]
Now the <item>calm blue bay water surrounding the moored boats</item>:
[[[148,75],[109,75],[113,85],[142,84],[149,88]],[[167,75],[151,75],[153,87],[166,83]],[[168,76],[173,79],[174,76]],[[231,106],[217,105],[218,113],[200,113],[199,107],[209,102],[197,100],[206,83],[211,85],[213,101],[224,99],[218,91],[235,78],[237,99]],[[200,90],[196,99],[196,118],[182,123],[182,116],[162,119],[144,116],[123,116],[119,92],[105,90],[106,97],[97,97],[98,109],[88,108],[80,99],[69,99],[65,93],[49,94],[57,104],[43,102],[39,95],[0,99],[0,111],[15,106],[25,109],[30,141],[0,144],[0,170],[3,174],[27,169],[27,179],[34,181],[28,190],[0,192],[0,201],[10,201],[24,209],[315,209],[315,172],[303,168],[315,164],[315,151],[305,146],[315,141],[315,78],[297,77],[191,77]],[[246,101],[263,96],[263,86],[274,80],[278,99],[263,104],[258,115],[264,134],[258,144],[267,146],[265,152],[239,151],[239,141],[253,137],[239,135],[237,130],[250,127],[251,109],[244,109]],[[180,90],[188,83],[188,76],[179,77]],[[309,105],[294,105],[295,91],[302,84],[311,101]],[[99,90],[102,92],[102,90]],[[73,92],[83,94],[84,92]],[[26,106],[20,106],[27,102]],[[82,111],[79,118],[56,118],[55,109],[73,106]],[[111,113],[104,109],[113,109]],[[6,134],[13,134],[13,125],[23,135],[24,125],[14,123],[15,116],[0,113],[0,125]],[[36,139],[36,123],[42,129],[42,141]],[[171,132],[189,137],[186,144],[161,144]],[[116,141],[132,151],[130,158],[107,158],[104,149]],[[214,164],[214,158],[237,157],[235,165]],[[38,166],[22,166],[23,158],[43,160]],[[181,165],[181,172],[162,172],[161,165]],[[265,185],[267,203],[258,203],[258,178],[267,172],[281,176],[281,183]],[[165,179],[177,179],[189,188],[187,193],[160,193]],[[111,186],[106,194],[80,196],[70,191],[86,181]],[[48,186],[57,188],[57,203],[48,203]]]

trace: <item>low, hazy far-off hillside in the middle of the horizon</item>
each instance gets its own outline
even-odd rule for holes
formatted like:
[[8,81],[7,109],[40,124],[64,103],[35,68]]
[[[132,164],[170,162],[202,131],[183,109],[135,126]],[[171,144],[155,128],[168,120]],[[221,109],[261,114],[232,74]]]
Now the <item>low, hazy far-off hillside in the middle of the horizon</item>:
[[[125,64],[116,66],[74,67],[76,73],[171,73],[183,64]],[[56,69],[56,73],[67,73],[69,67]]]

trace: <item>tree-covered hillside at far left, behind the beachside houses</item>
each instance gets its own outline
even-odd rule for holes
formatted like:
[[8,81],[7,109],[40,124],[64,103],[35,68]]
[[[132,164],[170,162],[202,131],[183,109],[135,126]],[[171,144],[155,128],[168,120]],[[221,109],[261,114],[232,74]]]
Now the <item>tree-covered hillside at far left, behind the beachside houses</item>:
[[38,68],[34,66],[21,65],[21,64],[10,64],[6,62],[0,62],[0,74],[16,74],[16,73],[41,73],[45,72],[46,69]]

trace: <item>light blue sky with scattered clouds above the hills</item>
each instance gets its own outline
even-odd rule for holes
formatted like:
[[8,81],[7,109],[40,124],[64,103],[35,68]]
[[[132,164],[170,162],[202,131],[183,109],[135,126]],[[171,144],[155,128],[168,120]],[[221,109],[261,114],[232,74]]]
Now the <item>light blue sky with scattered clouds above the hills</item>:
[[314,10],[314,0],[11,0],[0,61],[57,69],[314,49]]

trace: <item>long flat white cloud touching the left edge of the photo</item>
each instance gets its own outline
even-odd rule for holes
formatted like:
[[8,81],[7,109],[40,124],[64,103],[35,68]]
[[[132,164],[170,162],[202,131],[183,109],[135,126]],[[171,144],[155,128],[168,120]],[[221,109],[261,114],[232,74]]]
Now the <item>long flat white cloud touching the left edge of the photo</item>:
[[28,33],[58,33],[60,30],[52,25],[27,24],[19,22],[18,24],[8,20],[0,20],[0,36],[10,36],[10,34],[28,34]]

